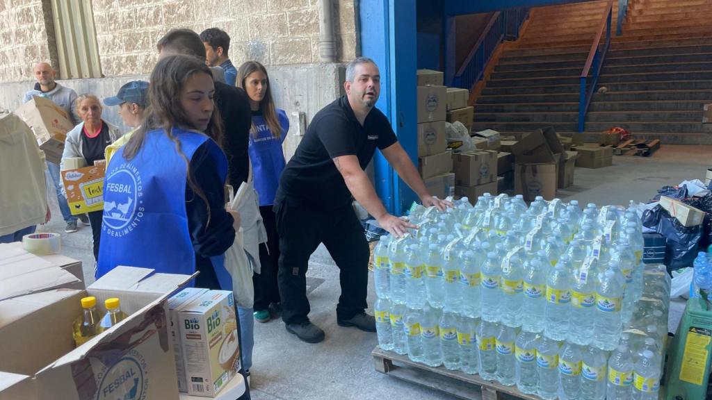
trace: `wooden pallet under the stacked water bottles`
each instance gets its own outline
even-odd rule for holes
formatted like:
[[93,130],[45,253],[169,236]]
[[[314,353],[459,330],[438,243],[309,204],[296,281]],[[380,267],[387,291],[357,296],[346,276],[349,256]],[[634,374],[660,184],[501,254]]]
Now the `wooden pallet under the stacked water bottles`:
[[516,386],[504,386],[496,381],[487,381],[479,375],[450,371],[445,367],[428,367],[412,362],[407,355],[388,352],[376,346],[372,352],[376,371],[404,381],[443,391],[466,400],[500,400],[503,394],[509,398],[541,400],[538,396],[523,394]]

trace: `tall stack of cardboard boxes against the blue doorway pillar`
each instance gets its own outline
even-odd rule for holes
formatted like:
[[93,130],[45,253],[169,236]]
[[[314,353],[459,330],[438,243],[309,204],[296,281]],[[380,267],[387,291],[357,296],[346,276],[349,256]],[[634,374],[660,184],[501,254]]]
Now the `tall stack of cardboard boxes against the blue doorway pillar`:
[[418,70],[418,169],[429,194],[454,195],[452,153],[447,149],[445,115],[447,90],[443,73]]

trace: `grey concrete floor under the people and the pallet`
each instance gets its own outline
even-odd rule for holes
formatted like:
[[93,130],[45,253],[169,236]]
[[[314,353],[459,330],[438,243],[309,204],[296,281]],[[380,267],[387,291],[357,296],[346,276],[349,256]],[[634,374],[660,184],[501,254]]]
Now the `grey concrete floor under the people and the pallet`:
[[[703,179],[705,169],[712,167],[712,147],[664,145],[653,157],[617,156],[613,160],[612,167],[577,168],[575,185],[560,191],[559,196],[599,206],[648,201],[661,186]],[[91,283],[91,230],[84,226],[77,233],[64,233],[56,200],[53,195],[51,198],[53,219],[41,230],[62,233],[63,253],[82,260],[86,282]],[[376,335],[336,325],[338,269],[323,247],[312,257],[308,283],[310,318],[325,330],[326,340],[320,344],[300,342],[286,332],[281,320],[256,323],[251,369],[253,399],[451,399],[438,391],[375,372],[370,354],[377,344]],[[369,289],[368,302],[372,305],[372,282]]]

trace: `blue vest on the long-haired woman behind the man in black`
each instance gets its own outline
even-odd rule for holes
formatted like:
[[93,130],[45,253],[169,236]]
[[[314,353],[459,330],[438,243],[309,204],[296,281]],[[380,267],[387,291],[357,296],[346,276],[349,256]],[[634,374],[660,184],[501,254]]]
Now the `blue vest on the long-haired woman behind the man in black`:
[[252,112],[252,123],[256,132],[250,132],[248,152],[252,162],[255,189],[260,199],[260,206],[274,204],[274,196],[279,186],[279,177],[284,169],[282,142],[289,132],[289,119],[284,110],[277,109],[277,119],[282,127],[280,137],[276,138],[267,126],[262,113]]

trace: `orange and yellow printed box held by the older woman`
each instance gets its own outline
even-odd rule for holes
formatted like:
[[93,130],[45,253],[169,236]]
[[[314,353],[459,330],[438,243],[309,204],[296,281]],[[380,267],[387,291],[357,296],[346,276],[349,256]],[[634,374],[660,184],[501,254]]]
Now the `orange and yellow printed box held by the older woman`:
[[103,167],[84,167],[62,171],[62,182],[72,215],[104,209]]

